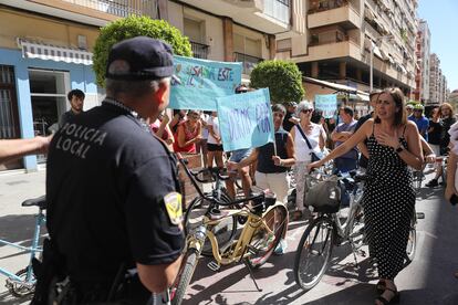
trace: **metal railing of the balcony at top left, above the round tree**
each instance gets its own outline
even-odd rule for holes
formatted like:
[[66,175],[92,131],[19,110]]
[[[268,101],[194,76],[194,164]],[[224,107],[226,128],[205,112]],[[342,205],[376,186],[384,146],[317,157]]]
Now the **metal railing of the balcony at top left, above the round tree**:
[[75,6],[110,13],[117,17],[149,15],[155,18],[157,11],[157,1],[144,0],[62,0]]

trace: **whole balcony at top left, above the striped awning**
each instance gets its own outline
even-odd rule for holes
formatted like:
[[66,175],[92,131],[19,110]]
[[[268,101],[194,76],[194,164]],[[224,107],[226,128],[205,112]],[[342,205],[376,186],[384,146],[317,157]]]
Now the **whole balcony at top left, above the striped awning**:
[[158,18],[157,0],[2,0],[2,3],[96,27],[131,14]]

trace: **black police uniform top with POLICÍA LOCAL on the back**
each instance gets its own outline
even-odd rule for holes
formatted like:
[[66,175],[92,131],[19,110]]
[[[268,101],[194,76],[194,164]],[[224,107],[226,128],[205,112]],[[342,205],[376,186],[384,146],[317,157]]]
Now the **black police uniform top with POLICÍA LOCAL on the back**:
[[[49,149],[46,224],[79,302],[104,301],[121,270],[171,263],[184,246],[164,204],[178,190],[176,160],[115,104],[75,116]],[[138,285],[143,302],[150,293]]]

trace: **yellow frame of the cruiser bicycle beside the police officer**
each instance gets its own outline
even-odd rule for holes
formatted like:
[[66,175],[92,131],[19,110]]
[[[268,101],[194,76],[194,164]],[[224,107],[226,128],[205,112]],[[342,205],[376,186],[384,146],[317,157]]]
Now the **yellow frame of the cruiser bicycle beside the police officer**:
[[[272,209],[274,209],[277,206],[280,206],[280,204],[281,203],[275,203],[269,207],[262,213],[262,215],[257,215],[252,213],[251,211],[249,211],[247,208],[242,208],[238,210],[235,210],[235,209],[228,210],[227,211],[228,214],[218,220],[211,220],[208,218],[208,215],[205,215],[204,223],[196,229],[196,232],[194,234],[190,234],[188,236],[190,239],[188,241],[189,248],[194,248],[198,250],[200,253],[202,245],[204,245],[205,238],[208,238],[211,243],[214,257],[216,262],[218,263],[218,265],[227,265],[233,262],[240,262],[242,259],[246,257],[249,243],[251,242],[251,239],[258,228],[262,227],[269,234],[273,233],[272,230],[270,230],[270,228],[262,220],[262,218],[266,214],[268,214]],[[209,229],[211,229],[215,225],[218,225],[221,222],[221,220],[223,220],[225,218],[230,218],[235,215],[248,217],[248,221],[243,225],[243,229],[240,233],[240,238],[237,240],[235,244],[230,245],[232,251],[231,252],[226,251],[225,253],[221,254],[217,238]],[[202,239],[198,236],[199,234],[205,234],[205,238]],[[228,255],[225,255],[226,253],[228,253]],[[249,255],[249,253],[247,255]]]

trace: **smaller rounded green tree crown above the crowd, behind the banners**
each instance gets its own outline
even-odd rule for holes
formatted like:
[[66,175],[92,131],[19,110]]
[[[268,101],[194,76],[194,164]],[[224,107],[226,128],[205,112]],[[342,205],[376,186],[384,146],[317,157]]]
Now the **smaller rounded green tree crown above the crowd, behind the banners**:
[[263,61],[251,72],[251,87],[268,87],[272,103],[299,102],[305,94],[302,74],[293,62]]

